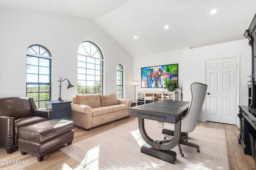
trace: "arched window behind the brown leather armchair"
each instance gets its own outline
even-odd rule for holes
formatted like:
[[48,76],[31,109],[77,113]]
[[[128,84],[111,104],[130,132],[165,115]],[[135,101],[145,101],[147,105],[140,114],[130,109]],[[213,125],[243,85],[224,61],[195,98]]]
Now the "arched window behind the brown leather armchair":
[[27,50],[26,96],[34,98],[38,108],[51,100],[51,54],[42,45]]

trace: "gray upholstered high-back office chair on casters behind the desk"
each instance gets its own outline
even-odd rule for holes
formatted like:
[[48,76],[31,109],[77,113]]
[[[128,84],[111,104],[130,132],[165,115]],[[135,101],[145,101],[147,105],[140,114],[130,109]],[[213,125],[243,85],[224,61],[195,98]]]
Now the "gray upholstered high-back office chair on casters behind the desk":
[[[189,143],[187,139],[188,139],[188,132],[191,132],[196,128],[200,111],[204,103],[207,85],[194,82],[191,84],[190,90],[191,90],[190,105],[188,107],[188,111],[182,117],[182,121],[181,121],[182,133],[181,133],[180,141],[178,143],[178,148],[180,149],[180,155],[182,157],[184,156],[184,154],[182,153],[180,144],[194,147],[196,148],[197,152],[200,152],[199,146],[193,143]],[[174,131],[168,130],[168,129],[174,129],[173,124],[165,123],[164,128],[165,129],[162,130],[162,133],[165,134],[164,139],[166,138],[172,139],[172,136],[174,135]]]

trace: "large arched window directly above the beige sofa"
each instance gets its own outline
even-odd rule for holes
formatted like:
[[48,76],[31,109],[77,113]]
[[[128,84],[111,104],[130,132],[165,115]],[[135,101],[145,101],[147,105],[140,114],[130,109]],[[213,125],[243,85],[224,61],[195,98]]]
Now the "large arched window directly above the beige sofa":
[[78,94],[103,94],[103,56],[99,47],[84,41],[77,58]]

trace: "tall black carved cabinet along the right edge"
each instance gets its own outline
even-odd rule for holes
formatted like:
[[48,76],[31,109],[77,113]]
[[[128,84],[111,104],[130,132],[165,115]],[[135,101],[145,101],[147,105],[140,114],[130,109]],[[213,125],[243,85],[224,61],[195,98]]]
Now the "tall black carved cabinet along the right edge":
[[252,71],[248,81],[248,106],[238,106],[240,119],[238,141],[244,149],[244,154],[252,155],[256,162],[256,14],[249,28],[244,32],[244,37],[248,38],[251,47]]

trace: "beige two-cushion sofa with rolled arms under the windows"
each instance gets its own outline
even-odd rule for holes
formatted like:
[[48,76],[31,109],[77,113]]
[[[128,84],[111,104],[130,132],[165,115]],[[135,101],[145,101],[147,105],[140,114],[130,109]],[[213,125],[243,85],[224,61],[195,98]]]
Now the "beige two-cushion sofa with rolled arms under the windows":
[[116,94],[76,95],[71,104],[71,120],[89,130],[92,127],[130,116],[132,101],[118,100]]

